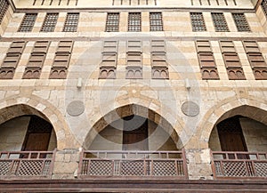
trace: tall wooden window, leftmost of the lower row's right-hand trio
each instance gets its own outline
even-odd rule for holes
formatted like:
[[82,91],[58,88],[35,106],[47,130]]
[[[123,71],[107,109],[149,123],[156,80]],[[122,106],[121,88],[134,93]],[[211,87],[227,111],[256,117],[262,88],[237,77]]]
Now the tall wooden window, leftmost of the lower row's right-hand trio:
[[214,53],[208,40],[196,41],[202,79],[219,79]]

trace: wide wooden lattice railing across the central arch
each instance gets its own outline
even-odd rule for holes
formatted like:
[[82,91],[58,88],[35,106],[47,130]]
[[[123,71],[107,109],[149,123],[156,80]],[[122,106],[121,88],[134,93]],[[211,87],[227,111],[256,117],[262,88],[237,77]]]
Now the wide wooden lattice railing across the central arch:
[[183,151],[83,151],[79,164],[81,178],[188,178]]

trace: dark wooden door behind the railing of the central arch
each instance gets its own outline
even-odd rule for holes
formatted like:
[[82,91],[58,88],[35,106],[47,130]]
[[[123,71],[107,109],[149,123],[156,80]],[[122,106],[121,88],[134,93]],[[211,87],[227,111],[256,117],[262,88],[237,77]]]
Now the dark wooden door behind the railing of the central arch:
[[128,123],[124,124],[123,150],[148,150],[148,120],[142,118],[137,120],[142,124],[136,128],[134,120],[128,119]]

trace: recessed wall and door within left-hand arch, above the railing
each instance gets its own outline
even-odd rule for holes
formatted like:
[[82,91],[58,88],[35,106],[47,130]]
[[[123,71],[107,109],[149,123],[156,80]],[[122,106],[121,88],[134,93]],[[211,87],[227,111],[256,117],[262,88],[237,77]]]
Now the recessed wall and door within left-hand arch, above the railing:
[[56,148],[53,126],[41,117],[14,117],[0,125],[0,151],[47,151]]

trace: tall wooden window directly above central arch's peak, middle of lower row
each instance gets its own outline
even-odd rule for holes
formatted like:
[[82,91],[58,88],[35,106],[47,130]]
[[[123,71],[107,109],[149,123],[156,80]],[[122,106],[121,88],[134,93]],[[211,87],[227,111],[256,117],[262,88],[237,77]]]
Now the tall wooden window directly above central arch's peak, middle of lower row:
[[142,41],[127,42],[126,78],[142,78]]

